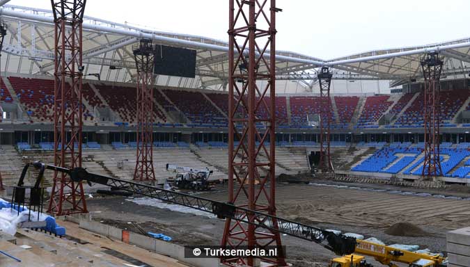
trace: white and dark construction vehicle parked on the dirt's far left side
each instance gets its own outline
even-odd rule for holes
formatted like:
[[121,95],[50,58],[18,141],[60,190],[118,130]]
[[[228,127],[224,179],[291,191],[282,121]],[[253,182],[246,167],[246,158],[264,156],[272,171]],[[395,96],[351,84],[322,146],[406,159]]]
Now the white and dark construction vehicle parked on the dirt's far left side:
[[196,169],[173,164],[166,164],[166,170],[178,172],[173,179],[173,184],[180,189],[192,189],[196,191],[210,190],[214,183],[209,181],[212,170],[208,168]]

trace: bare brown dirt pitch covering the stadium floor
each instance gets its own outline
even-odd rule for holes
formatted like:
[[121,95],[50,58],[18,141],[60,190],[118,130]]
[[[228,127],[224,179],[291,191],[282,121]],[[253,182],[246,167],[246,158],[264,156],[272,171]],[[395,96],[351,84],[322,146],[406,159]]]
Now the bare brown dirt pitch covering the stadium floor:
[[[363,234],[366,238],[374,236],[388,244],[420,245],[433,252],[445,252],[446,232],[470,225],[469,200],[304,184],[278,184],[276,189],[278,216],[309,225]],[[470,197],[466,192],[455,193]],[[200,195],[226,201],[224,188]],[[92,213],[95,220],[139,232],[137,227],[129,224],[136,222],[145,231],[162,232],[181,245],[219,244],[224,227],[224,221],[217,218],[137,205],[123,197],[94,198],[88,200],[88,207],[90,211],[95,211]],[[412,223],[429,234],[385,234],[395,223]],[[287,246],[288,261],[294,266],[327,266],[329,259],[334,257],[334,254],[319,245],[290,236],[283,236],[283,245]]]

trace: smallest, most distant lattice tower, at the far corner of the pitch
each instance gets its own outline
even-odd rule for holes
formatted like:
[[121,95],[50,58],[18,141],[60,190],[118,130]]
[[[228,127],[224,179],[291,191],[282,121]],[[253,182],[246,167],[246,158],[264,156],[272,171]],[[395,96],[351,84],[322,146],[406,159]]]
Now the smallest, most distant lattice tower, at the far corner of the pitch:
[[318,83],[320,85],[320,163],[318,169],[322,172],[332,172],[331,154],[329,149],[331,136],[331,99],[329,97],[329,88],[331,77],[328,67],[322,67],[318,74]]

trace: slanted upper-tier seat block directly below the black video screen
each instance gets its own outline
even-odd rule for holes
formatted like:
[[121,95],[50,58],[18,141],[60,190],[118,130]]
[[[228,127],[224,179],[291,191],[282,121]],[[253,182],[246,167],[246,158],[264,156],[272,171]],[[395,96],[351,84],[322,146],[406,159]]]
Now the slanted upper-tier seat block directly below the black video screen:
[[171,99],[180,111],[185,113],[191,121],[188,126],[199,127],[226,127],[227,119],[215,106],[201,94],[180,90],[164,90],[164,94]]

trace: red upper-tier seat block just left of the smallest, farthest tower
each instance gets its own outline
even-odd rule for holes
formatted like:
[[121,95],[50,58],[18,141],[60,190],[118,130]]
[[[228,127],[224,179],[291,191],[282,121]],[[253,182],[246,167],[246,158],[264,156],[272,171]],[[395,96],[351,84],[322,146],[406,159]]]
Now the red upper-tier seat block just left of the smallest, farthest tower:
[[[329,103],[331,105],[331,101]],[[293,127],[311,128],[307,122],[307,115],[314,114],[320,115],[320,97],[290,97],[290,115]],[[334,112],[331,112],[331,128],[333,129],[336,128],[334,122]]]

